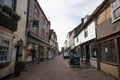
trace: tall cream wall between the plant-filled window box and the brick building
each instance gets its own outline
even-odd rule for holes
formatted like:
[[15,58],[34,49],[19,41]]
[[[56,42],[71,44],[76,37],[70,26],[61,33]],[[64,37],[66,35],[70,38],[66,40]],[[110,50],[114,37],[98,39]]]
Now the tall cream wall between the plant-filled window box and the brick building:
[[[20,15],[21,19],[18,21],[18,28],[17,31],[14,32],[15,40],[14,43],[16,44],[20,38],[23,40],[23,45],[26,44],[26,22],[27,22],[27,7],[28,7],[28,0],[17,0],[16,5],[16,13]],[[22,60],[25,60],[25,50],[23,50]]]

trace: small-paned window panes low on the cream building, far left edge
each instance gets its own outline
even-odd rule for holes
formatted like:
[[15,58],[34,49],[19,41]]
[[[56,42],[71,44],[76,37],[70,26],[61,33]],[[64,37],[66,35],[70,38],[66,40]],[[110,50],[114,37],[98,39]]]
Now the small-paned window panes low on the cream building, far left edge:
[[8,62],[10,54],[10,41],[0,38],[0,63]]

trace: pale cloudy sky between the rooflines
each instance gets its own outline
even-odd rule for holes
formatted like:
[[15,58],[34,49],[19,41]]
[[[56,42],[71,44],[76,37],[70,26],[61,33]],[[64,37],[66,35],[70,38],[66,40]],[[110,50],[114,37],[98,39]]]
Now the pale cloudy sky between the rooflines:
[[[90,15],[103,0],[38,0],[51,22],[59,47],[64,46],[67,33],[80,24],[81,18]],[[59,49],[60,49],[59,48]]]

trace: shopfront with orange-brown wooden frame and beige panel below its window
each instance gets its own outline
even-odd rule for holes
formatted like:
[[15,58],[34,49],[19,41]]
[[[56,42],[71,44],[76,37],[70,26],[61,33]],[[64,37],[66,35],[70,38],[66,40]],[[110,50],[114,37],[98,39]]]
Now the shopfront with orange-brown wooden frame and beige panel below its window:
[[120,77],[120,36],[99,41],[100,69],[116,78]]

